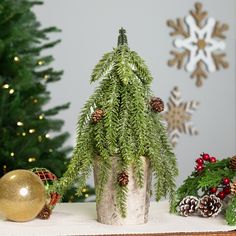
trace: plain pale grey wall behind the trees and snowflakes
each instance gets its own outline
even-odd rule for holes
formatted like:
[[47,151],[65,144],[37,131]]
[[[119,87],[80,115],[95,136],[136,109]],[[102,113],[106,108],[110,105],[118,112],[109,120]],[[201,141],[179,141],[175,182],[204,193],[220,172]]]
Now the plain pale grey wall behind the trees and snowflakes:
[[[174,86],[179,86],[184,100],[201,103],[193,116],[199,136],[182,135],[175,152],[180,176],[177,183],[190,174],[195,158],[205,151],[216,157],[236,152],[235,127],[235,0],[201,1],[209,15],[228,23],[227,58],[230,68],[209,75],[202,88],[196,88],[190,75],[167,66],[172,49],[166,20],[183,17],[193,8],[193,0],[50,0],[36,7],[43,26],[62,29],[62,43],[50,53],[58,69],[64,69],[63,80],[51,84],[54,106],[70,101],[69,110],[60,114],[69,131],[70,145],[75,144],[75,127],[83,103],[92,94],[91,71],[101,56],[117,43],[121,26],[128,32],[129,46],[142,56],[155,78],[153,91],[165,101]],[[54,38],[54,36],[53,36]],[[91,180],[89,180],[91,181]]]

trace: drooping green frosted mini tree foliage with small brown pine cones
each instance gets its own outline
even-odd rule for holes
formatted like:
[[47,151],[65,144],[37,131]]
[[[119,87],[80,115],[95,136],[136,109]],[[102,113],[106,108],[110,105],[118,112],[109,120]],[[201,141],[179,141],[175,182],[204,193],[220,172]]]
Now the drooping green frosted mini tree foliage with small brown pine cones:
[[95,160],[99,160],[99,178],[96,200],[99,202],[104,186],[112,174],[112,159],[117,159],[116,206],[126,216],[126,195],[132,167],[137,186],[144,184],[141,157],[150,160],[156,178],[156,200],[173,197],[176,160],[169,145],[159,112],[163,102],[153,98],[150,84],[153,80],[144,61],[128,47],[125,30],[120,30],[118,46],[106,53],[95,66],[91,82],[101,80],[94,94],[82,109],[77,127],[77,145],[68,170],[54,185],[64,191],[76,182],[80,195],[91,173]]

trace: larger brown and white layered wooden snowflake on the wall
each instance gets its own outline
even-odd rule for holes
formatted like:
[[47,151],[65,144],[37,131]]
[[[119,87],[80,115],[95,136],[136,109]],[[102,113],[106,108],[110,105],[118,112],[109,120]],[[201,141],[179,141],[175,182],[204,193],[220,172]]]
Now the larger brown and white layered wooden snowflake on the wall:
[[[173,28],[171,36],[180,36],[173,41],[178,50],[171,51],[173,58],[168,61],[169,66],[185,67],[196,78],[196,85],[202,86],[207,72],[214,72],[229,66],[223,53],[226,44],[225,31],[229,29],[214,18],[207,17],[208,13],[202,10],[202,4],[196,3],[195,10],[184,19],[168,20],[167,25]],[[179,51],[181,50],[181,51]]]

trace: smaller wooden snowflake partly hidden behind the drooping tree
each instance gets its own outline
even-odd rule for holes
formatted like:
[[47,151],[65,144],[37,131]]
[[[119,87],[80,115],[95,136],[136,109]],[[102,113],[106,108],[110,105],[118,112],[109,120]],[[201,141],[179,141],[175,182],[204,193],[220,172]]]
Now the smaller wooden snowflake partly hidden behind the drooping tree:
[[191,123],[192,114],[197,109],[199,102],[183,102],[178,87],[174,87],[167,102],[167,111],[162,117],[167,122],[167,131],[172,145],[175,147],[180,134],[197,135],[198,131]]

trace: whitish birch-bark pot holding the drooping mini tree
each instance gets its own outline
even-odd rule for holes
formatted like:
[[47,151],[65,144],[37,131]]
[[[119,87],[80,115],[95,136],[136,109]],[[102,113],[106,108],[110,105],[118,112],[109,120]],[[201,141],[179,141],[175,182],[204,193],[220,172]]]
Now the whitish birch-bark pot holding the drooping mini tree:
[[[150,205],[152,170],[146,157],[142,157],[144,169],[144,185],[139,188],[134,179],[133,168],[127,173],[129,183],[127,185],[127,216],[122,218],[116,207],[115,181],[117,181],[117,158],[112,159],[112,168],[110,177],[104,187],[102,199],[97,202],[97,220],[102,224],[108,225],[134,225],[144,224],[148,221],[148,211]],[[98,184],[99,176],[98,160],[94,162],[94,182],[95,187]]]

